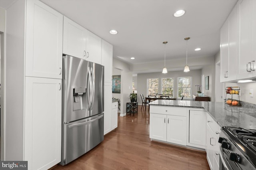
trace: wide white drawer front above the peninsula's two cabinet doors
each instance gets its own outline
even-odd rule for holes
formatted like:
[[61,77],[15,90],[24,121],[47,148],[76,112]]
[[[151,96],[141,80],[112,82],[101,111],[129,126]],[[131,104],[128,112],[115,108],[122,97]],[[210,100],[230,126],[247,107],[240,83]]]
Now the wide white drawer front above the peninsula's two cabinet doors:
[[150,106],[150,113],[187,116],[187,108],[185,107],[170,107],[170,106]]

